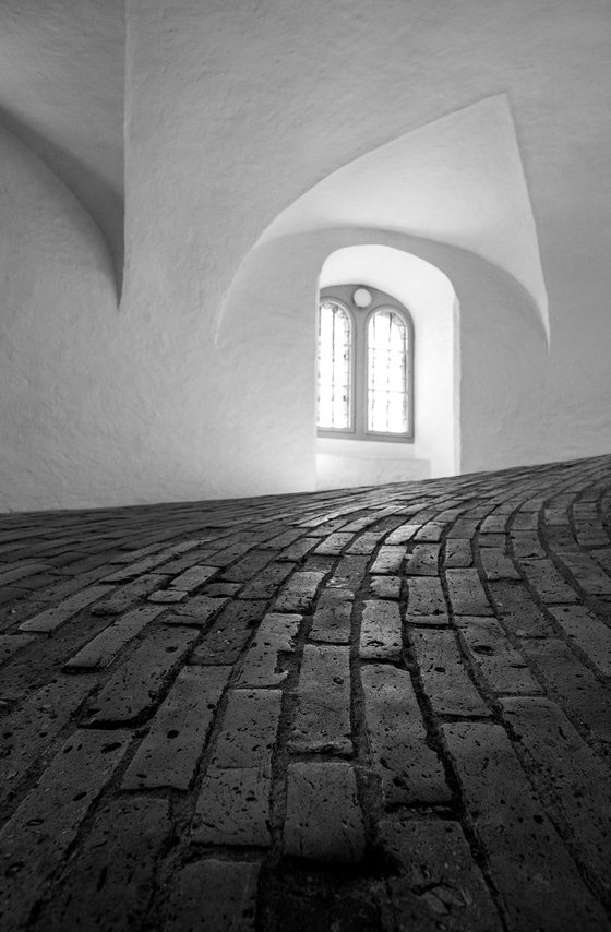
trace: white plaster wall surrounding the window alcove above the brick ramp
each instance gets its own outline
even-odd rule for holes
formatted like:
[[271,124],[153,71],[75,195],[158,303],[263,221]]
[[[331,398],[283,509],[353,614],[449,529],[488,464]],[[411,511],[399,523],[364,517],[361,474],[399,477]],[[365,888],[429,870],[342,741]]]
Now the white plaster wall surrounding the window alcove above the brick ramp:
[[[0,507],[313,488],[314,342],[300,310],[325,258],[358,243],[414,253],[453,284],[463,469],[609,451],[607,0],[128,0],[125,22],[119,312],[87,216],[25,150],[7,143],[0,163]],[[430,154],[455,190],[468,182],[452,224],[441,199],[434,228],[416,228],[404,200],[392,228],[330,210],[253,249],[338,169],[394,140],[421,146],[423,127],[499,95],[519,216],[489,196],[488,169],[476,210],[477,160],[448,167],[424,146],[411,174]],[[72,131],[69,119],[62,138]],[[494,234],[489,253],[474,216]]]

